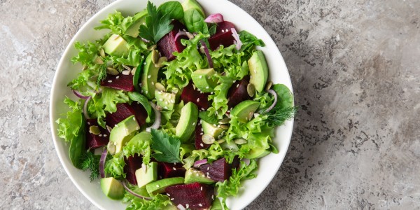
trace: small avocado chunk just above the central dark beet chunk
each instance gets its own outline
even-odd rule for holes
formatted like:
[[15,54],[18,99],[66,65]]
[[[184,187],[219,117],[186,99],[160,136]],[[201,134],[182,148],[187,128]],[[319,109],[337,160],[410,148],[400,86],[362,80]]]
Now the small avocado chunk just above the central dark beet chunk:
[[213,92],[214,87],[217,86],[216,79],[213,76],[216,74],[213,68],[211,69],[198,69],[191,73],[191,78],[195,87],[202,92]]

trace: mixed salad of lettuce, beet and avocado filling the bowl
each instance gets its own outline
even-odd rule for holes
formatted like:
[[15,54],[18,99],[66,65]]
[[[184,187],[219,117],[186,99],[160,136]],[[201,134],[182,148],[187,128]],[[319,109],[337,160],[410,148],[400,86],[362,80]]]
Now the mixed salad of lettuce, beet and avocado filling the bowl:
[[296,112],[265,42],[195,0],[116,10],[95,29],[74,45],[82,67],[55,119],[73,167],[127,209],[229,209]]

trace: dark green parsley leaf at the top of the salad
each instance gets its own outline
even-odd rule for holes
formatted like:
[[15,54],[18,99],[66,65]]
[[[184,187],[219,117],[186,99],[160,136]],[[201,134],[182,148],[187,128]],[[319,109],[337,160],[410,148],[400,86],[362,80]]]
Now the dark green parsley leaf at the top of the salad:
[[169,19],[169,14],[163,14],[161,10],[148,1],[147,3],[148,16],[146,16],[146,25],[141,25],[139,29],[139,36],[148,41],[157,43],[160,38],[165,36],[174,28]]

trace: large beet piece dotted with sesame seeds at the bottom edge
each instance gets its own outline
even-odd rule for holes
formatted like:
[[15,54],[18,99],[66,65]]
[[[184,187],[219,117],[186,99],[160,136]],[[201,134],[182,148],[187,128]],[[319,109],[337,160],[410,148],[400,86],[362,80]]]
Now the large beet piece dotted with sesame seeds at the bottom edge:
[[197,182],[167,187],[165,192],[175,206],[181,204],[187,209],[209,209],[214,200],[214,187]]

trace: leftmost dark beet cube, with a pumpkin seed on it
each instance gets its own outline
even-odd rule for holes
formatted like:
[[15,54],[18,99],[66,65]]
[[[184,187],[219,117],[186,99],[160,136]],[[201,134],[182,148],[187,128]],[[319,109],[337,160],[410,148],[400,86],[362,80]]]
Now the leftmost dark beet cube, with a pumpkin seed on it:
[[[103,127],[98,125],[97,119],[89,119],[86,120],[86,149],[96,149],[101,146],[105,146],[109,142],[109,131],[104,129]],[[99,130],[101,131],[101,134],[94,135],[89,132],[89,127],[92,125],[96,125],[99,127]]]

